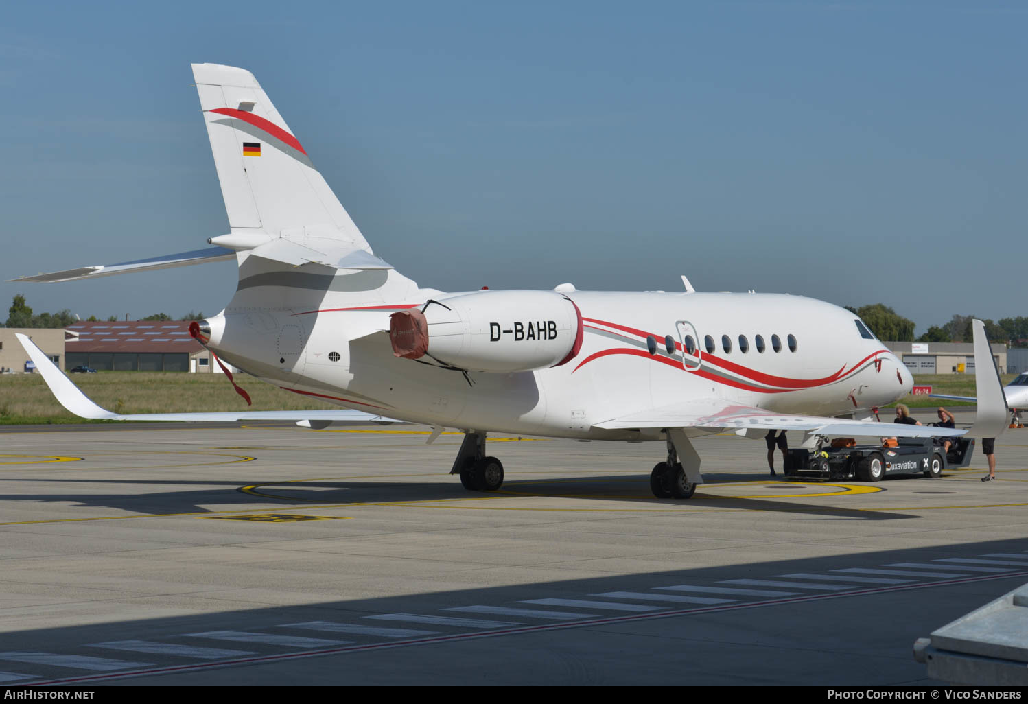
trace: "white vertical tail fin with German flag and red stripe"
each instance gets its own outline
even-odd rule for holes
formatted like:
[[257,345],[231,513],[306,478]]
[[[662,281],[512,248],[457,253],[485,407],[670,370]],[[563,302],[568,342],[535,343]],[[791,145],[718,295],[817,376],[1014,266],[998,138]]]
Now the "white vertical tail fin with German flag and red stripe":
[[192,71],[232,234],[252,236],[254,246],[282,237],[336,255],[370,254],[253,74],[218,64],[193,64]]

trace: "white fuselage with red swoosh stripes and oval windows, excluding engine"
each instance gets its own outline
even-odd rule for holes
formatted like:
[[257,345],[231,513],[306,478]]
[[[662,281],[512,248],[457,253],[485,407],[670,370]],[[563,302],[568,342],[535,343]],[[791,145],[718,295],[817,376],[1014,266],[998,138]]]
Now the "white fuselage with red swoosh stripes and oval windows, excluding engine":
[[[268,282],[268,288],[277,288],[276,283],[281,282]],[[252,295],[244,300],[237,293],[221,316],[210,319],[208,346],[282,388],[434,425],[656,439],[660,434],[592,425],[710,398],[780,412],[867,415],[913,385],[895,356],[879,340],[861,337],[855,314],[801,296],[571,291],[565,295],[581,310],[584,326],[575,359],[536,371],[466,374],[395,357],[384,332],[398,309],[461,294],[414,289],[401,300],[383,296],[355,303],[347,296],[339,305],[330,295],[291,301],[288,294],[267,293],[260,298],[286,305],[259,307]],[[692,347],[687,335],[699,351],[685,355],[684,361],[683,348]],[[670,354],[666,336],[674,343]],[[712,353],[706,336],[712,339]],[[730,343],[728,351],[723,336]],[[648,348],[648,337],[656,342],[655,354]]]

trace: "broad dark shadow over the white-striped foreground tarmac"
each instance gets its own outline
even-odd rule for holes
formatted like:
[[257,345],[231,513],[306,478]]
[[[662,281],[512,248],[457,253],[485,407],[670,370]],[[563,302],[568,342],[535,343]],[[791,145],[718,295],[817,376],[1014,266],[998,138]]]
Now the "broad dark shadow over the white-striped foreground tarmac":
[[[241,672],[234,668],[166,676],[171,677],[169,683],[192,684],[241,681],[251,684],[323,686],[476,682],[916,684],[925,683],[927,679],[924,666],[913,659],[913,641],[1016,588],[1025,580],[1028,567],[1011,567],[1007,575],[976,572],[975,577],[982,579],[974,584],[953,584],[954,580],[946,582],[942,575],[910,577],[910,571],[895,572],[906,579],[888,580],[882,579],[884,572],[881,568],[902,568],[908,565],[910,569],[915,566],[911,563],[916,563],[921,567],[939,565],[940,572],[960,572],[961,566],[952,561],[954,557],[970,558],[966,561],[975,562],[975,558],[990,553],[1020,552],[1028,556],[1025,548],[1023,540],[997,540],[885,551],[868,549],[859,553],[820,557],[735,562],[694,569],[534,582],[379,598],[226,608],[221,612],[208,607],[179,616],[7,631],[0,633],[0,652],[16,652],[15,655],[27,651],[81,653],[105,658],[144,660],[155,663],[153,667],[159,668],[166,665],[187,666],[189,663],[174,658],[171,663],[162,663],[159,660],[161,656],[131,655],[123,651],[104,650],[102,645],[105,641],[131,643],[145,640],[150,643],[260,651],[261,646],[253,641],[205,640],[203,636],[225,632],[244,632],[243,635],[292,633],[338,638],[357,646],[368,645],[368,649],[351,653],[323,652],[321,657],[286,660],[284,666],[261,673],[260,679],[250,678],[257,674],[253,669]],[[336,554],[336,558],[339,573],[348,576],[345,565],[350,556]],[[935,562],[932,564],[929,560]],[[939,560],[943,560],[943,564]],[[248,563],[248,566],[254,568],[260,565]],[[231,567],[219,566],[218,569],[224,571]],[[838,580],[843,578],[832,575],[856,572],[865,576],[867,584],[844,585],[841,593],[810,591],[817,587],[804,589],[800,586],[804,580],[810,581],[818,577]],[[879,579],[869,579],[869,575]],[[752,580],[744,581],[739,578],[767,581],[787,579],[796,588],[785,590],[780,585],[744,584],[743,582]],[[876,584],[889,582],[893,584]],[[691,592],[682,590],[681,586],[684,584],[718,585],[724,589],[720,592]],[[247,588],[245,584],[240,586],[244,590]],[[282,584],[276,584],[276,587],[287,589]],[[756,596],[746,595],[747,588]],[[331,589],[328,586],[320,588],[321,591]],[[344,578],[337,589],[347,589]],[[782,590],[785,593],[776,597],[774,591],[767,591],[762,596],[757,589]],[[788,593],[792,593],[791,597]],[[702,594],[725,598],[723,603],[709,607],[701,603],[662,603],[659,600],[647,602],[646,597],[653,598],[654,594]],[[578,606],[552,603],[534,605],[534,602],[546,599],[580,601]],[[603,603],[604,599],[613,603],[649,603],[653,606],[650,613],[654,616],[661,612],[680,614],[678,618],[648,619],[646,613],[603,612],[590,609],[588,606]],[[587,613],[578,616],[585,617],[582,621],[587,623],[576,627],[574,620],[533,622],[530,617],[518,616],[513,610],[503,615],[503,612],[483,610],[482,606],[584,610]],[[725,608],[722,609],[722,606]],[[447,644],[439,641],[446,640],[447,636],[473,636],[474,629],[461,628],[456,624],[403,622],[402,618],[378,620],[378,615],[480,619],[482,623],[497,622],[498,625],[483,625],[479,629],[500,632],[490,638],[452,640]],[[641,620],[620,625],[612,623],[618,617],[638,617]],[[429,632],[442,637],[394,637],[388,642],[392,647],[407,645],[417,649],[404,654],[397,653],[396,650],[374,650],[374,637],[354,635],[353,630],[333,633],[331,627],[340,624],[363,626],[369,630],[381,627],[419,629],[410,632]],[[524,626],[534,626],[537,628],[533,630],[545,632],[515,632],[524,630]],[[551,627],[560,630],[547,630]],[[505,629],[510,629],[512,633],[504,637],[502,631]],[[127,640],[133,638],[140,640]],[[320,647],[322,651],[339,650],[331,645]],[[250,655],[281,654],[284,658],[289,658],[299,650],[303,649],[265,650],[263,653]],[[317,653],[319,647],[309,646],[308,651]],[[242,662],[247,664],[251,661],[244,659]],[[498,667],[498,663],[503,666]],[[11,663],[4,665],[9,667]],[[24,672],[29,666],[20,664],[19,667]],[[73,674],[76,673],[65,670],[60,675],[49,676]],[[123,681],[128,684],[160,683],[160,676],[161,673],[158,672],[156,680],[134,678]]]

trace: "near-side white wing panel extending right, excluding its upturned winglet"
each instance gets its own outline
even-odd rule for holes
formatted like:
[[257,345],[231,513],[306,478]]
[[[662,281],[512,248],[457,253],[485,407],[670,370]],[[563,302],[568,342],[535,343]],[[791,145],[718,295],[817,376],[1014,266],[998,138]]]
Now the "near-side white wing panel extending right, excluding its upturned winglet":
[[876,420],[852,420],[818,415],[778,413],[764,408],[743,406],[724,399],[695,399],[663,406],[640,413],[611,418],[594,423],[595,428],[664,429],[695,428],[708,432],[725,430],[783,430],[803,431],[811,435],[842,437],[897,437],[939,438],[963,435],[967,431],[933,428],[930,425],[905,425]]

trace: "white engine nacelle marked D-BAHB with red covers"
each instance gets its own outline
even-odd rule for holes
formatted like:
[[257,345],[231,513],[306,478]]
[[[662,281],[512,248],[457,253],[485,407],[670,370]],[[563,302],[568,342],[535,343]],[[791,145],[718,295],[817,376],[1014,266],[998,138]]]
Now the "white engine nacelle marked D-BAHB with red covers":
[[478,291],[390,317],[393,354],[478,372],[559,367],[582,346],[582,313],[550,291]]

